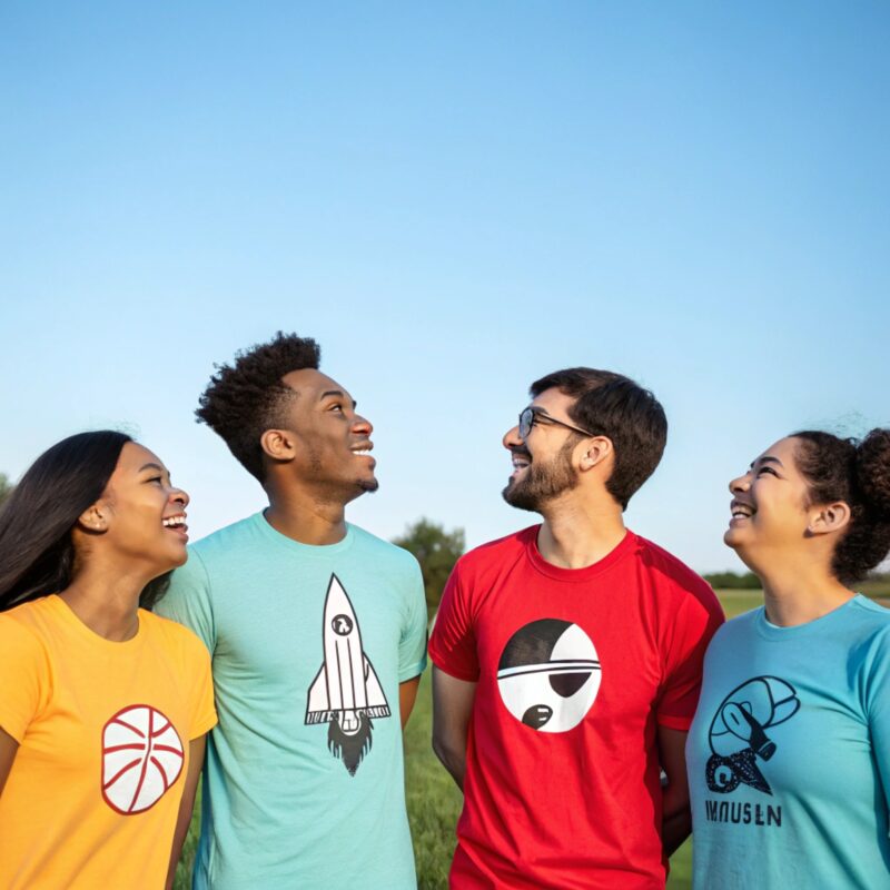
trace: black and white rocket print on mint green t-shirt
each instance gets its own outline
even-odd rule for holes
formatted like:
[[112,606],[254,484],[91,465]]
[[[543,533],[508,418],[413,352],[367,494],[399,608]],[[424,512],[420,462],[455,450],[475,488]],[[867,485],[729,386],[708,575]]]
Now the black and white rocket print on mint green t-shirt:
[[380,681],[362,646],[349,596],[336,575],[330,576],[322,629],[324,661],[309,686],[306,723],[327,723],[327,746],[349,775],[370,751],[372,718],[389,716]]

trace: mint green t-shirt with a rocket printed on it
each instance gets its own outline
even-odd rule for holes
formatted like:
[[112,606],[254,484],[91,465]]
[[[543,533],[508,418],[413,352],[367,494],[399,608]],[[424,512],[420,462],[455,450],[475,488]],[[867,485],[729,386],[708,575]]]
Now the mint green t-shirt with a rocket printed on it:
[[414,890],[398,684],[426,664],[417,561],[354,525],[299,544],[258,513],[190,547],[157,611],[212,656],[194,888]]

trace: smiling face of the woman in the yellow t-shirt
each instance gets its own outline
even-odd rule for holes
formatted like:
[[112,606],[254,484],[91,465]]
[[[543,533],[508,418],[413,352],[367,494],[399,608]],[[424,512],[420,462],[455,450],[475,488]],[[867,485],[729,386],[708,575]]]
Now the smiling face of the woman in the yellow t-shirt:
[[147,566],[155,577],[186,561],[188,495],[170,483],[160,458],[128,442],[102,497],[87,512],[85,530],[96,542]]

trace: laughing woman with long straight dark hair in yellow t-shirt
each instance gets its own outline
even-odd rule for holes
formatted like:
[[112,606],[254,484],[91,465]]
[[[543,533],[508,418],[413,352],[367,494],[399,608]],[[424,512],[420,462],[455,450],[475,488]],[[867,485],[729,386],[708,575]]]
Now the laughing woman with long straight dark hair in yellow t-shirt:
[[81,433],[0,508],[0,887],[164,888],[216,723],[209,655],[139,607],[186,561],[188,495]]

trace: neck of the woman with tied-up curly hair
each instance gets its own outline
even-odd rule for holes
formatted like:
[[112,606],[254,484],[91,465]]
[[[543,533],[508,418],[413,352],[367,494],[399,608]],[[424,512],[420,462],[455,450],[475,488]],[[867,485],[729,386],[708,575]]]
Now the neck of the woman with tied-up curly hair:
[[780,627],[821,619],[854,596],[811,557],[783,558],[777,567],[758,568],[755,573],[763,584],[767,619]]

